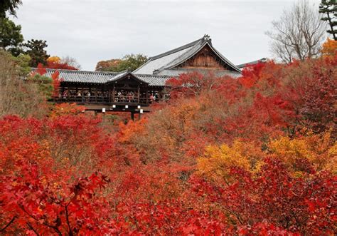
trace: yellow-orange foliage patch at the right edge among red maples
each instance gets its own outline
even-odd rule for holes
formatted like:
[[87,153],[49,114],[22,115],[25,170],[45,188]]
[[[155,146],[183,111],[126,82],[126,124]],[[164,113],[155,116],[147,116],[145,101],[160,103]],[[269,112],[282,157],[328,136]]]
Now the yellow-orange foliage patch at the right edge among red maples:
[[301,172],[296,168],[296,162],[304,159],[316,171],[336,172],[337,147],[336,142],[331,140],[330,133],[294,139],[282,137],[269,143],[269,150],[294,172]]

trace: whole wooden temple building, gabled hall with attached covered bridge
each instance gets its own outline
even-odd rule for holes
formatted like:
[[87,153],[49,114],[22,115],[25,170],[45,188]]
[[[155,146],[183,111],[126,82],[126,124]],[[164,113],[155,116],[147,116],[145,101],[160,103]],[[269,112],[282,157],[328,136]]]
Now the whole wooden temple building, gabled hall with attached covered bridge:
[[[154,101],[169,99],[166,81],[181,73],[241,75],[240,68],[214,48],[208,35],[152,56],[135,71],[58,71],[62,82],[59,96],[54,98],[56,103],[83,104],[93,111],[129,111],[132,116],[149,111]],[[55,69],[47,69],[46,76],[53,72]]]

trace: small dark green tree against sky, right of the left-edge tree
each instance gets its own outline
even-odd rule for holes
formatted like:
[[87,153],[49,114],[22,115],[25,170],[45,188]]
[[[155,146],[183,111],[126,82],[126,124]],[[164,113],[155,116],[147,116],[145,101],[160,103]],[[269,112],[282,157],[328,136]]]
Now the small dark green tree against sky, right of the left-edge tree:
[[38,63],[42,63],[46,65],[47,59],[49,55],[45,48],[48,46],[46,41],[32,39],[28,40],[27,43],[23,44],[26,46],[27,50],[26,53],[31,56],[31,67],[37,67]]

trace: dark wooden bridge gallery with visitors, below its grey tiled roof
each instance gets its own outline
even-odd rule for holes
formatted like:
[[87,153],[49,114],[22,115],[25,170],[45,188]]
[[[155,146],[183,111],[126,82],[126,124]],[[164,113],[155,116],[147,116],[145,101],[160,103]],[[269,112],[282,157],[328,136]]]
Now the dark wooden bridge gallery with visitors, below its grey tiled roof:
[[95,112],[149,112],[149,105],[167,101],[168,95],[162,87],[149,86],[131,73],[112,78],[107,83],[60,83],[55,103],[76,103],[85,106],[87,111]]

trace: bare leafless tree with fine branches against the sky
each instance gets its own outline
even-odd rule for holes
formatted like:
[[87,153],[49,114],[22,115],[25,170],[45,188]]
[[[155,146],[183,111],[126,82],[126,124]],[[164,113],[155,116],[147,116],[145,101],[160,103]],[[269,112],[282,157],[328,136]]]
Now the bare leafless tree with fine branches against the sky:
[[266,32],[273,40],[270,48],[274,56],[284,63],[319,56],[326,30],[320,19],[319,12],[306,0],[299,0],[289,11],[283,11]]

